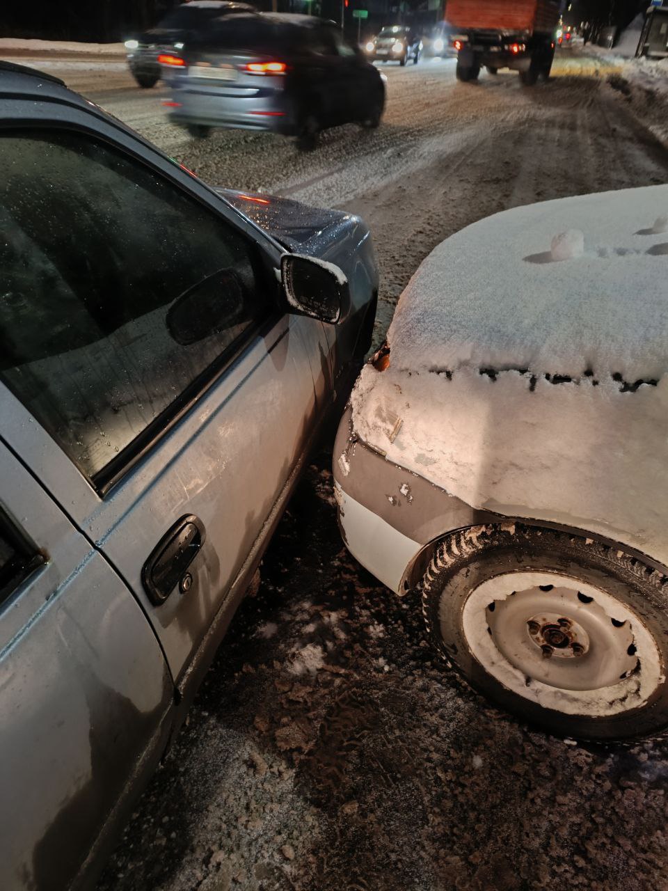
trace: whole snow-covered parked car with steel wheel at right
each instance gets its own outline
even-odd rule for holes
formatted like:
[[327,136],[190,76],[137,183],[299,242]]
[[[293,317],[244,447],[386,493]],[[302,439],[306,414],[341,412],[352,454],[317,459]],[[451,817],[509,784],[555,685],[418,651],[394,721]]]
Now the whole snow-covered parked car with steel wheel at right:
[[549,732],[668,725],[668,186],[514,208],[403,292],[334,449],[350,552]]

